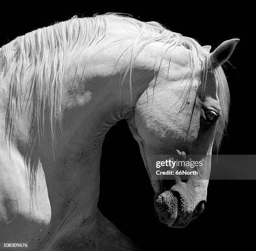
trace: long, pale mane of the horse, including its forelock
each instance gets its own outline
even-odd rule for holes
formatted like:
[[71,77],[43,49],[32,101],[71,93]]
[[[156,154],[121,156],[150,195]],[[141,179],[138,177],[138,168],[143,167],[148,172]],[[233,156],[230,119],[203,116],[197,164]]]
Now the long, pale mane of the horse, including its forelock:
[[[8,110],[5,118],[5,135],[9,137],[9,142],[15,129],[16,115],[17,113],[21,114],[24,109],[24,100],[21,100],[22,93],[23,97],[27,95],[28,98],[31,98],[32,103],[29,106],[31,109],[29,131],[31,128],[37,128],[39,138],[40,135],[43,135],[46,119],[44,111],[47,108],[49,109],[51,135],[54,142],[56,118],[61,124],[62,87],[69,69],[74,60],[82,54],[79,54],[81,50],[90,49],[92,51],[95,45],[102,41],[107,34],[107,29],[111,28],[110,20],[123,23],[126,26],[130,25],[136,30],[136,33],[131,34],[123,29],[123,34],[117,36],[117,40],[113,43],[130,42],[125,50],[125,55],[123,55],[128,59],[123,80],[126,76],[130,78],[130,88],[132,88],[133,63],[141,50],[150,43],[163,43],[165,51],[161,55],[164,55],[168,48],[176,46],[184,46],[189,49],[191,51],[191,80],[195,76],[196,66],[202,63],[201,58],[207,58],[205,51],[192,38],[167,30],[157,22],[141,22],[130,16],[116,13],[95,15],[92,18],[77,18],[75,16],[70,20],[34,30],[0,48],[0,81],[10,69],[12,70]],[[118,60],[119,63],[123,63],[123,60]],[[203,74],[207,74],[209,64],[209,60],[203,64]],[[159,65],[155,65],[156,71],[160,70],[160,67],[161,60]],[[229,90],[222,68],[218,67],[212,72],[218,82],[218,95],[222,109],[215,133],[215,146],[218,148],[228,121]],[[26,73],[29,73],[29,81],[24,81]],[[30,142],[33,143],[31,137]]]

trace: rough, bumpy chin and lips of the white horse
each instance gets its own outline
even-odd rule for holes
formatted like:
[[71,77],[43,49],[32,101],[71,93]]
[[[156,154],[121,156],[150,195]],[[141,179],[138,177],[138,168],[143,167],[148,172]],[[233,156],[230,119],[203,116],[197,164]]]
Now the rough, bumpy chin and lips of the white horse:
[[181,210],[179,197],[174,196],[171,191],[155,196],[155,208],[160,222],[172,228],[184,228],[191,219],[191,216]]

